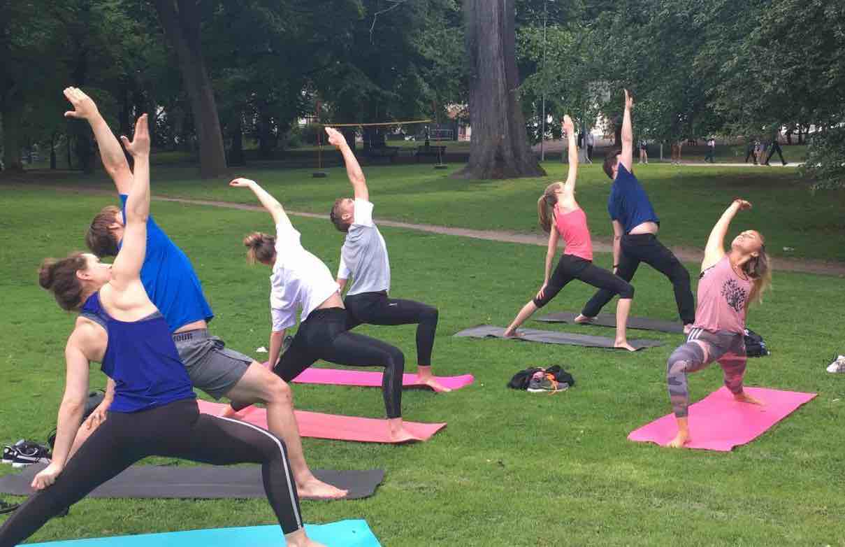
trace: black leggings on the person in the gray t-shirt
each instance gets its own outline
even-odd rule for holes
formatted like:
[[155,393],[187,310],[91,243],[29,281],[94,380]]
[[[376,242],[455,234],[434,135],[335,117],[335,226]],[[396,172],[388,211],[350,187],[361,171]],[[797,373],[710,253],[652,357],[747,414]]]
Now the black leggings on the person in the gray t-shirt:
[[437,308],[414,302],[388,298],[387,293],[360,293],[347,296],[344,302],[349,311],[346,328],[357,325],[414,325],[417,324],[417,364],[431,366],[434,332],[437,331]]

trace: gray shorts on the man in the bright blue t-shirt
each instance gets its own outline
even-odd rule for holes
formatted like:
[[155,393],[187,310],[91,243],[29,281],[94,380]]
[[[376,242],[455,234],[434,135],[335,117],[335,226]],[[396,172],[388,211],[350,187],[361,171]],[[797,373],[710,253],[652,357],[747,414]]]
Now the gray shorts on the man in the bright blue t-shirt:
[[226,347],[208,329],[178,332],[173,342],[194,387],[219,399],[241,381],[253,359]]

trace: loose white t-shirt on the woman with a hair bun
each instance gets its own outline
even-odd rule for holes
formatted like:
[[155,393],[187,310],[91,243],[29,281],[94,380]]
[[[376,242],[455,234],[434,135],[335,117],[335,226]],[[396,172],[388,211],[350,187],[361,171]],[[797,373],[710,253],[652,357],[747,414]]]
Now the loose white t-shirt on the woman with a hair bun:
[[341,288],[329,268],[305,250],[299,238],[289,223],[275,227],[275,264],[270,275],[270,316],[275,332],[296,325],[297,307],[302,307],[300,320],[304,321]]

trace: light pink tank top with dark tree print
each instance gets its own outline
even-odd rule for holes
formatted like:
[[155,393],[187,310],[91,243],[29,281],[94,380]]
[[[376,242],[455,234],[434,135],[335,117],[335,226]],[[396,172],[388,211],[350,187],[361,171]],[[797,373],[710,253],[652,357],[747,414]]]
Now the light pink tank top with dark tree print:
[[745,312],[753,282],[738,276],[728,255],[701,272],[695,327],[706,331],[745,331]]

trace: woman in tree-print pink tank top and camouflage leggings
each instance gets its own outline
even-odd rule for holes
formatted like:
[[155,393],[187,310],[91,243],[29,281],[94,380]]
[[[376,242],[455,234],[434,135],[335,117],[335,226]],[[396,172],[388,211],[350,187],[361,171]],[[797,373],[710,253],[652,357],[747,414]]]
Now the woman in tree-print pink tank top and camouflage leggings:
[[737,401],[763,404],[743,391],[742,380],[748,306],[760,302],[771,282],[766,242],[760,232],[746,230],[733,238],[727,254],[724,249],[725,234],[733,216],[750,207],[748,201],[734,200],[710,232],[701,262],[695,325],[687,342],[675,349],[668,360],[669,399],[678,420],[678,435],[668,445],[673,448],[680,448],[690,440],[687,373],[717,361],[724,372],[725,386]]

